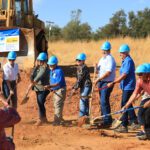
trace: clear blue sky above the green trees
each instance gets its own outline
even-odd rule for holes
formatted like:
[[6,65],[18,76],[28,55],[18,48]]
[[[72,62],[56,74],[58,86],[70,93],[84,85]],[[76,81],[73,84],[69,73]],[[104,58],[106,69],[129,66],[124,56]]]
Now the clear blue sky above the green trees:
[[150,8],[150,0],[33,0],[35,14],[43,21],[64,27],[71,20],[71,11],[81,9],[81,23],[87,22],[93,31],[109,23],[113,14],[123,9],[137,12]]

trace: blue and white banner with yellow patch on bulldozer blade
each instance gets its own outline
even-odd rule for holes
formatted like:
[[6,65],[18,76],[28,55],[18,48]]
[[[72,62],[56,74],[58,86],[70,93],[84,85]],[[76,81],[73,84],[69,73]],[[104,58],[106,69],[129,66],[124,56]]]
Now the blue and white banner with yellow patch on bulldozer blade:
[[0,52],[19,51],[19,29],[0,30]]

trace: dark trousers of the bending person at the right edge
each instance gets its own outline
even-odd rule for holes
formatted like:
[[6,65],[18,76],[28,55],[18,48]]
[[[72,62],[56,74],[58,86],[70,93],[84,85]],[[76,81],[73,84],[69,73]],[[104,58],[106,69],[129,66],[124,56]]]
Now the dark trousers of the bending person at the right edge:
[[[141,101],[141,104],[140,106],[144,105],[147,101],[149,101],[150,99],[147,98],[147,99],[144,99]],[[145,125],[145,112],[146,112],[147,108],[139,108],[139,111],[138,111],[138,122],[140,125]]]

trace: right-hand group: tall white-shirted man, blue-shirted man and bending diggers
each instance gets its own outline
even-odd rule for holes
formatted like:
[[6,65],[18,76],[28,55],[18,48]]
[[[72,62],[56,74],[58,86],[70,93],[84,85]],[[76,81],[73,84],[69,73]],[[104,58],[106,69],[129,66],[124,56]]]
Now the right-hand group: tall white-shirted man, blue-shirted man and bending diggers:
[[[145,63],[135,69],[135,64],[130,56],[130,47],[123,44],[119,48],[120,57],[122,59],[120,67],[120,75],[116,77],[116,62],[111,55],[111,44],[105,42],[102,47],[103,57],[100,59],[96,69],[98,78],[95,85],[98,86],[102,115],[110,114],[110,95],[114,85],[120,83],[122,90],[121,108],[125,111],[121,117],[121,125],[116,128],[117,132],[127,133],[128,125],[133,129],[141,126],[141,131],[137,133],[139,139],[146,139],[147,134],[145,128],[150,128],[150,63]],[[139,77],[136,81],[135,75]],[[106,87],[106,88],[105,88]],[[143,95],[141,107],[139,108],[138,117],[132,106],[132,102]],[[103,127],[109,127],[112,124],[112,117],[106,115],[103,118]]]

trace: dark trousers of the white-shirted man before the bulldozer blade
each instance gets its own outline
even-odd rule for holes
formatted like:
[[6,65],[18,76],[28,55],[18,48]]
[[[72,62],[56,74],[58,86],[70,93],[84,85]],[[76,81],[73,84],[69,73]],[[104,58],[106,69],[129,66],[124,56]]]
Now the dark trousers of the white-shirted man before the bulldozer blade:
[[[11,81],[10,82],[10,86],[14,92],[14,94],[11,96],[9,104],[13,107],[13,108],[17,108],[17,87],[16,87],[16,81]],[[3,80],[2,82],[2,90],[3,90],[3,94],[4,97],[7,99],[9,97],[10,94],[10,89],[7,85],[7,82],[5,80]]]

